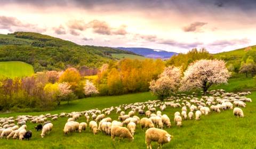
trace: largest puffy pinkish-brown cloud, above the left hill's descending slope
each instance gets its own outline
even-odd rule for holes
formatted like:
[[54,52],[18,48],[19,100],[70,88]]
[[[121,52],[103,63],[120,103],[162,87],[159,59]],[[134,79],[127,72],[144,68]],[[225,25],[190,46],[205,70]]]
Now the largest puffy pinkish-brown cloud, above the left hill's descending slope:
[[81,30],[92,29],[94,33],[100,35],[126,35],[126,26],[122,25],[119,28],[110,27],[106,21],[93,20],[86,23],[83,20],[70,20],[67,26],[71,30]]

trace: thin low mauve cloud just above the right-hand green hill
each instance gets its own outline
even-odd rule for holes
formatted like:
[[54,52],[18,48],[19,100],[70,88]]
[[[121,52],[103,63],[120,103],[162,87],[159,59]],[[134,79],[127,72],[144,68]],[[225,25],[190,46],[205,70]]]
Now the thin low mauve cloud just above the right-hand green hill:
[[215,42],[210,43],[210,46],[234,46],[234,45],[245,45],[251,42],[250,39],[243,38],[243,39],[231,39],[231,40],[216,40]]

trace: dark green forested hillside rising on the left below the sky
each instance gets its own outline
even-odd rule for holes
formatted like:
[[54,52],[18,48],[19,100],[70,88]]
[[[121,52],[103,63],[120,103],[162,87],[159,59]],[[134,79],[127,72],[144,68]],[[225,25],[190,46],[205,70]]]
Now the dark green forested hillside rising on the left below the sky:
[[67,66],[98,68],[116,59],[110,53],[134,54],[109,47],[82,46],[36,32],[0,35],[0,61],[23,61],[35,71],[61,70]]

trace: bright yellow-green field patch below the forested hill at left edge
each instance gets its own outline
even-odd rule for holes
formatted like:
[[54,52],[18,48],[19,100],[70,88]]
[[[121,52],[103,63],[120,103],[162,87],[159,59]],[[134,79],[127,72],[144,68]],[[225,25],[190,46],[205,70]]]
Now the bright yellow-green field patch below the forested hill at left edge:
[[34,73],[33,66],[19,61],[0,62],[0,76],[14,78],[31,76]]

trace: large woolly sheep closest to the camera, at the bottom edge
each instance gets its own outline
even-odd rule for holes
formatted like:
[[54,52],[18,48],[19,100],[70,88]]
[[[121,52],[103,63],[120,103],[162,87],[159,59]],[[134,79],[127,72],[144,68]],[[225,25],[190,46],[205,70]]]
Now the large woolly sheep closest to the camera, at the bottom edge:
[[149,128],[146,131],[146,144],[147,148],[151,147],[151,142],[157,142],[158,148],[162,147],[163,144],[169,143],[173,136],[167,133],[167,131],[157,128]]

